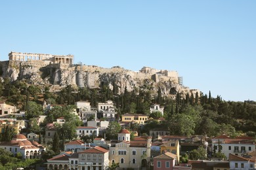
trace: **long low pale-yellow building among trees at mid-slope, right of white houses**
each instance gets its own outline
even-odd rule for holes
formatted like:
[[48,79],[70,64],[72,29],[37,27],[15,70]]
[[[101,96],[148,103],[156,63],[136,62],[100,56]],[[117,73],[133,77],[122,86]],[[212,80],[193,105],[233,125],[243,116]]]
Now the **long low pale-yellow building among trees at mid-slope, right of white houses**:
[[145,114],[123,114],[122,122],[135,122],[136,124],[145,124],[148,116]]

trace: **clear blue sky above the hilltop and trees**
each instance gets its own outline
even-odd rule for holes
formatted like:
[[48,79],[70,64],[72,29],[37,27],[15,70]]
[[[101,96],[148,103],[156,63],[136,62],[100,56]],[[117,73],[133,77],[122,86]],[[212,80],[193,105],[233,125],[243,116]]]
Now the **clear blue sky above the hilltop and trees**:
[[184,86],[256,101],[256,1],[1,1],[0,60],[73,54],[74,63],[178,71]]

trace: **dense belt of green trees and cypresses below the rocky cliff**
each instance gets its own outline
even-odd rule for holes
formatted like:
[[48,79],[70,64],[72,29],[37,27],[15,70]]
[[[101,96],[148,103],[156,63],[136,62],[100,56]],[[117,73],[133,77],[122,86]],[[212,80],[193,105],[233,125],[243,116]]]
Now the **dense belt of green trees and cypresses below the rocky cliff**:
[[[113,88],[110,90],[108,84],[111,83]],[[17,105],[19,109],[28,112],[28,118],[36,118],[43,110],[38,107],[43,101],[62,105],[74,105],[75,101],[90,101],[91,105],[96,106],[98,102],[104,102],[108,99],[116,103],[117,118],[122,114],[140,113],[150,115],[150,105],[158,103],[165,107],[164,118],[166,122],[150,122],[152,125],[145,126],[142,133],[148,133],[153,127],[167,127],[173,135],[208,135],[209,137],[226,133],[230,136],[246,133],[255,136],[256,129],[256,102],[255,101],[223,101],[221,96],[212,97],[209,94],[186,94],[172,92],[176,95],[175,99],[163,97],[161,88],[158,92],[152,91],[152,86],[146,84],[128,92],[127,88],[119,94],[118,86],[115,82],[103,83],[100,89],[78,88],[66,86],[60,92],[50,92],[49,88],[40,88],[36,85],[28,85],[26,82],[16,80],[10,82],[5,78],[0,82],[1,99],[8,104]],[[72,107],[72,106],[69,106]],[[73,117],[69,118],[68,107],[57,108],[46,112],[47,122],[52,122],[60,116],[65,119],[74,121],[66,127],[60,128],[60,140],[72,139],[74,127],[79,126],[81,122]],[[67,111],[68,110],[68,111]],[[151,115],[153,118],[159,118],[160,114],[155,112]],[[47,123],[45,122],[45,123]],[[68,121],[67,121],[68,122]],[[30,121],[31,130],[38,132],[33,120]],[[74,127],[72,127],[74,126]],[[175,128],[173,128],[175,127]]]

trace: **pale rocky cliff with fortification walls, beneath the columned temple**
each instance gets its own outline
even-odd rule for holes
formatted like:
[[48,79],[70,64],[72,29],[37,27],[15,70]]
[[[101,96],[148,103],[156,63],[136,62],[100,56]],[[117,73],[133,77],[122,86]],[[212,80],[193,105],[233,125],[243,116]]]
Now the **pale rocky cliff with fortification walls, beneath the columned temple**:
[[43,67],[26,65],[22,61],[1,61],[0,67],[1,78],[8,76],[11,81],[25,80],[28,84],[33,83],[42,88],[49,86],[52,90],[59,90],[68,85],[99,88],[100,84],[106,84],[113,90],[113,85],[116,84],[119,93],[123,93],[125,87],[128,91],[143,88],[153,93],[157,93],[158,88],[161,88],[162,95],[173,97],[177,93],[200,93],[199,90],[181,86],[177,72],[158,71],[149,67],[135,72],[121,67],[106,69],[95,65],[50,64]]

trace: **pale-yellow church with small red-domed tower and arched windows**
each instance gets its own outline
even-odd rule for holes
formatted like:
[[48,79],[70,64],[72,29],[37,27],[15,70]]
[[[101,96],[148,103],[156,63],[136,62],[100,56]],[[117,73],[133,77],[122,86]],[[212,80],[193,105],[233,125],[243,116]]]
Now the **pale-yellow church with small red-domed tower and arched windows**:
[[131,141],[130,135],[127,129],[122,129],[118,133],[118,141],[112,141],[110,166],[112,163],[119,163],[120,169],[149,167],[151,137],[135,137]]

